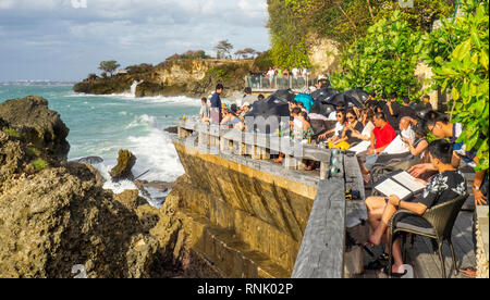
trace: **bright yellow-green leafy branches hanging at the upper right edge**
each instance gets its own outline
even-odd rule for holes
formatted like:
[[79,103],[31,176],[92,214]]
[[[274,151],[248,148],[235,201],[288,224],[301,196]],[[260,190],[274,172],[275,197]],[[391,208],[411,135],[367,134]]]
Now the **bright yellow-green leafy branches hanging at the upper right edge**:
[[477,150],[477,171],[489,164],[489,1],[463,0],[464,15],[424,38],[433,68],[433,89],[451,90],[454,123],[465,126],[458,141]]

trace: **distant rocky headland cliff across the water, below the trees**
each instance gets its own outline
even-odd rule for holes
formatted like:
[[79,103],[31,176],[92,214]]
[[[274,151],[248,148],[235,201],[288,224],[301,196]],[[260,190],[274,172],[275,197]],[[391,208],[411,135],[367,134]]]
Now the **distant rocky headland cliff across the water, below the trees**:
[[216,85],[225,86],[225,95],[242,91],[245,76],[254,71],[253,60],[171,60],[142,73],[115,75],[107,78],[87,78],[76,84],[76,92],[107,95],[128,92],[132,84],[136,97],[189,96],[207,97]]

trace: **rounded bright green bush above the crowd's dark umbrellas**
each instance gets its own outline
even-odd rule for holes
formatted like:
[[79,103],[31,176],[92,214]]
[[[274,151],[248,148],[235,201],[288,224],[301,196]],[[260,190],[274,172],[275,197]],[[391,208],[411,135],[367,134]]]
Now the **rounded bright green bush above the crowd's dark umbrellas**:
[[342,72],[332,76],[332,85],[339,89],[396,92],[402,99],[419,90],[414,75],[419,50],[419,33],[401,11],[395,11],[390,18],[370,26],[366,37],[344,52]]

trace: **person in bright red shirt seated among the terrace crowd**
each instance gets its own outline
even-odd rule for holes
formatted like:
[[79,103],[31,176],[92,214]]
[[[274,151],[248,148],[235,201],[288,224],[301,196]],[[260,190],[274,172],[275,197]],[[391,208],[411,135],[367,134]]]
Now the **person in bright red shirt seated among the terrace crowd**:
[[[383,113],[375,114],[375,126],[371,135],[371,147],[369,147],[366,160],[364,157],[359,157],[359,165],[363,174],[369,174],[369,170],[378,160],[378,155],[390,146],[390,143],[395,139],[396,133],[387,122]],[[366,178],[365,178],[366,179]]]

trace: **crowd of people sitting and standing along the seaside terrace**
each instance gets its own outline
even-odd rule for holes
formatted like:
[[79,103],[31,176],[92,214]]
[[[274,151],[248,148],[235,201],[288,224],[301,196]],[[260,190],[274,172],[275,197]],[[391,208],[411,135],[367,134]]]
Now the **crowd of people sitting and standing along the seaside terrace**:
[[[321,83],[324,80],[320,80],[317,88],[321,88]],[[291,139],[354,152],[367,187],[377,179],[372,176],[375,171],[401,160],[412,162],[406,171],[426,186],[421,195],[409,201],[403,201],[396,196],[369,197],[366,200],[372,232],[369,243],[387,245],[389,222],[399,209],[421,215],[428,209],[467,192],[466,179],[458,171],[460,163],[464,161],[475,167],[478,158],[475,151],[467,151],[458,142],[464,133],[463,125],[453,124],[448,115],[433,111],[429,96],[424,96],[418,103],[412,103],[408,98],[399,101],[394,92],[380,97],[371,92],[363,103],[364,108],[338,103],[335,111],[327,116],[315,105],[309,95],[311,90],[315,88],[304,89],[294,100],[289,101]],[[246,112],[255,101],[264,101],[264,96],[256,98],[252,95],[252,89],[246,88],[241,107],[226,107],[221,103],[222,91],[223,87],[218,85],[210,99],[210,109],[207,107],[207,99],[203,99],[200,117],[207,123],[245,130]],[[326,124],[329,123],[331,126],[327,128]],[[429,142],[429,139],[434,141]],[[281,153],[274,162],[283,163],[283,160],[284,154]],[[308,171],[317,167],[318,162],[307,162]],[[488,205],[488,170],[476,172],[471,187],[476,205]],[[413,222],[415,226],[430,226],[409,217],[405,222]],[[392,275],[403,276],[406,270],[403,266],[400,240],[395,240],[393,247]],[[388,253],[383,252],[366,267],[388,273],[387,261]],[[464,272],[475,273],[471,268]]]

